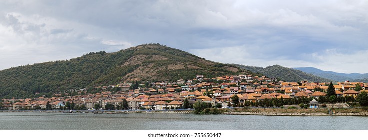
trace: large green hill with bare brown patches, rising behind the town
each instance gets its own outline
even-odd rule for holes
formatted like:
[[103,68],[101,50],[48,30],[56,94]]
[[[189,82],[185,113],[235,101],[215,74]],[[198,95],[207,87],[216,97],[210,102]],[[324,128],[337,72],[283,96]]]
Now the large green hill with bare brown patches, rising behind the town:
[[38,63],[0,71],[0,97],[33,97],[131,81],[176,81],[196,75],[238,74],[233,65],[212,62],[188,52],[145,44],[118,52],[91,52],[70,60]]

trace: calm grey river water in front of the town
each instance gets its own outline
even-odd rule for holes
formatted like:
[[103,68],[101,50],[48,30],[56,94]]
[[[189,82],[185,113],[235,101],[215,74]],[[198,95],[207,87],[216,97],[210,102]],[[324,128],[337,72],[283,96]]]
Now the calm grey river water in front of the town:
[[0,112],[0,129],[367,130],[368,117]]

